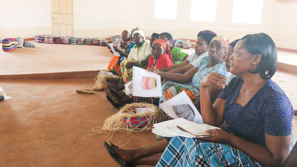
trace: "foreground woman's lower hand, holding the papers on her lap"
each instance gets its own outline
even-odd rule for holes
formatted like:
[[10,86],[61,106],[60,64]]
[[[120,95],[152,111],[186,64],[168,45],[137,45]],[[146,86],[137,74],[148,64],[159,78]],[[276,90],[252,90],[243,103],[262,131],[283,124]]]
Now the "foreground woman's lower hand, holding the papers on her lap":
[[213,143],[229,143],[229,140],[231,138],[231,134],[228,132],[225,132],[222,129],[209,129],[205,130],[206,133],[212,134],[210,137],[201,137],[199,139],[210,141]]

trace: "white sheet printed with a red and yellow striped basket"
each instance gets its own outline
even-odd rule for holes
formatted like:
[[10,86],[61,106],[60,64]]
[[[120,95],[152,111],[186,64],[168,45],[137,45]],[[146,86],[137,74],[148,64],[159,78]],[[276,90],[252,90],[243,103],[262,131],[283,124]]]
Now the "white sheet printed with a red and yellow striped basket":
[[161,77],[140,67],[133,66],[132,95],[139,97],[162,96]]

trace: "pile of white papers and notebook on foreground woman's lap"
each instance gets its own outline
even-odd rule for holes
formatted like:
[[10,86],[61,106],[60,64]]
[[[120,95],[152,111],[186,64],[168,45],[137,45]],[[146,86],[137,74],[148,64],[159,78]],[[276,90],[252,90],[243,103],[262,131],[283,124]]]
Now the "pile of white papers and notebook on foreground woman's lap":
[[[205,130],[208,129],[220,129],[218,127],[214,127],[207,124],[197,124],[195,122],[188,121],[184,118],[172,119],[169,121],[160,122],[153,125],[152,132],[165,137],[175,137],[175,136],[183,136],[189,138],[195,137],[205,137],[209,136],[209,133],[205,133]],[[178,127],[182,127],[183,129],[191,132],[188,133],[185,130],[181,130]]]

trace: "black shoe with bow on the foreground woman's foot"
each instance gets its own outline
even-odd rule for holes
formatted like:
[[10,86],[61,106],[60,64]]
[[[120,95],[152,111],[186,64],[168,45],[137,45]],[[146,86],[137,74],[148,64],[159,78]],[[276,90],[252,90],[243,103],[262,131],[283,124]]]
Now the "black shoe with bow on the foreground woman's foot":
[[113,160],[116,161],[116,163],[121,166],[121,167],[131,167],[132,163],[125,160],[124,158],[122,158],[118,153],[116,153],[116,151],[114,150],[115,148],[118,148],[119,146],[116,146],[112,143],[108,143],[106,141],[103,142],[103,146],[105,147],[105,149],[107,150],[108,154],[110,155],[110,157],[113,158]]

